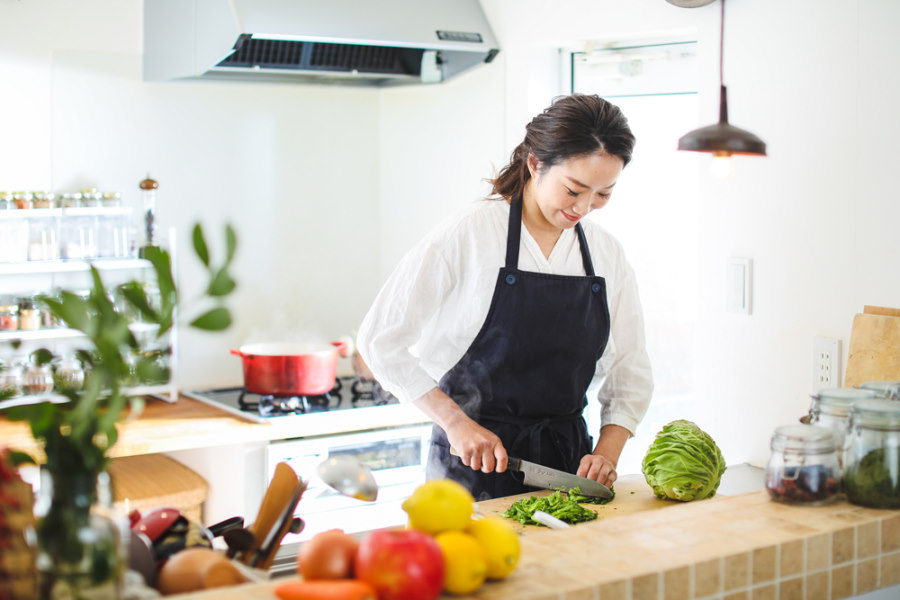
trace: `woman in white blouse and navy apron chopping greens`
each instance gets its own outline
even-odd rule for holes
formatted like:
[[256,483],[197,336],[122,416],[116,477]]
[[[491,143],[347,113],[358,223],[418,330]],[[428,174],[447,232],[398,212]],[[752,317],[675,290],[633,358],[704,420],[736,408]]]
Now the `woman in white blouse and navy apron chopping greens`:
[[[429,478],[478,500],[530,491],[504,473],[512,455],[615,482],[653,384],[634,274],[584,217],[609,201],[633,146],[616,106],[558,98],[527,126],[493,197],[431,232],[378,294],[359,351],[385,389],[434,420]],[[592,446],[583,411],[595,375]]]

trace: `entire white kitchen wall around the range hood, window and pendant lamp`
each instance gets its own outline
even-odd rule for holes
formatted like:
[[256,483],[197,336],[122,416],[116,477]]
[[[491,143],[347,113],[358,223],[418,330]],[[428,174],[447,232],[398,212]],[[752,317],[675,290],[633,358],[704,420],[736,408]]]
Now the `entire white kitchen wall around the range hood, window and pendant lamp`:
[[[239,381],[229,346],[273,323],[351,330],[400,254],[483,193],[561,91],[556,47],[696,31],[701,120],[715,120],[718,3],[482,1],[502,48],[494,63],[372,93],[145,84],[139,0],[0,0],[0,189],[135,194],[150,171],[163,225],[179,228],[188,297],[188,226],[234,222],[237,324],[182,336],[181,375]],[[701,421],[729,462],[763,462],[772,429],[806,411],[815,335],[841,338],[846,354],[855,312],[900,306],[898,25],[895,0],[728,2],[731,121],[763,137],[769,157],[739,159],[725,183],[698,157],[700,276],[684,285],[701,299]],[[754,260],[749,317],[723,308],[733,255]]]

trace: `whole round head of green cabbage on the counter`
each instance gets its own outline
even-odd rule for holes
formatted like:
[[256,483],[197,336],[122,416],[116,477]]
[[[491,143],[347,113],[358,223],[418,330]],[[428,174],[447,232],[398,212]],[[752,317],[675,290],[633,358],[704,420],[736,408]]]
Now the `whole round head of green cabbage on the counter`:
[[689,502],[716,495],[725,458],[709,434],[678,420],[656,434],[641,471],[658,498]]

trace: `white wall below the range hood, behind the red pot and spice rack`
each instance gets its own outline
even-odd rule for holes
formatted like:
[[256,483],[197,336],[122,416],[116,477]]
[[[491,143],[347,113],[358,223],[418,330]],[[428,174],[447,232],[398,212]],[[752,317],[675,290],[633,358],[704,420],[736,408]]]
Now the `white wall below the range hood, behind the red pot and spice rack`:
[[368,306],[378,282],[378,94],[145,83],[141,7],[0,3],[0,189],[97,187],[137,205],[149,172],[160,183],[160,228],[177,230],[186,308],[202,283],[192,224],[202,221],[221,248],[221,224],[231,222],[235,326],[181,335],[179,383],[239,384],[229,348],[336,339]]

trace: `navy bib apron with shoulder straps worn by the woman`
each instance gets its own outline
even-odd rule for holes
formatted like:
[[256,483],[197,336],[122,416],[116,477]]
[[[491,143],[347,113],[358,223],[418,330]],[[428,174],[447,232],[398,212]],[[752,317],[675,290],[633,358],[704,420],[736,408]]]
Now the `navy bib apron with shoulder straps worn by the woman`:
[[[522,201],[510,204],[506,266],[481,330],[439,386],[510,456],[575,473],[593,450],[585,392],[609,340],[606,281],[594,275],[581,224],[575,226],[585,276],[520,271]],[[435,425],[426,475],[462,483],[476,500],[535,488],[512,472],[473,471],[450,455]]]

